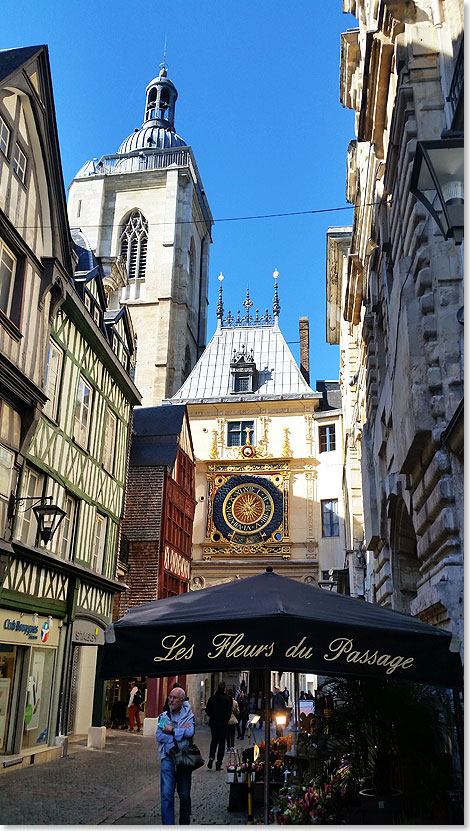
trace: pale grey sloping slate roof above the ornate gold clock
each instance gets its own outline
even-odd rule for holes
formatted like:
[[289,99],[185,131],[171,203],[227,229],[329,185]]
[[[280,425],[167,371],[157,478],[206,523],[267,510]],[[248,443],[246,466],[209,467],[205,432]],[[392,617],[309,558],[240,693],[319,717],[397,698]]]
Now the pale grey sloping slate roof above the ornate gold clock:
[[[253,350],[258,370],[254,393],[231,390],[234,351]],[[256,401],[277,398],[321,398],[305,381],[277,323],[266,326],[219,326],[194,369],[173,396],[179,401]]]

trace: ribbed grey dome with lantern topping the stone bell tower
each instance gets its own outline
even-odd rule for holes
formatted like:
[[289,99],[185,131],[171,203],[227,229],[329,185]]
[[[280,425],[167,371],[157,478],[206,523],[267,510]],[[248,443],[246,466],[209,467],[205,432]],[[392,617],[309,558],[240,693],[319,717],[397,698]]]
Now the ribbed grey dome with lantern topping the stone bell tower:
[[145,118],[140,130],[134,130],[118,149],[120,155],[133,150],[163,150],[167,147],[186,147],[186,142],[175,132],[175,104],[178,91],[167,78],[166,67],[158,78],[150,81],[145,91]]

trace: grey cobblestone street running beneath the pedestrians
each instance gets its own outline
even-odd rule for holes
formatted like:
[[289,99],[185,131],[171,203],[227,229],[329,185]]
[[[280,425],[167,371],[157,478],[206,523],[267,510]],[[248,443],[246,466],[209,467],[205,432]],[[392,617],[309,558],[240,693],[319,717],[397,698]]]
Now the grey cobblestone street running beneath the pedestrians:
[[[207,761],[208,727],[196,729],[196,742]],[[239,750],[247,746],[238,742]],[[191,796],[192,824],[247,824],[246,812],[228,811],[225,768],[196,771]],[[160,825],[155,739],[108,730],[104,750],[87,748],[85,738],[71,742],[64,759],[2,773],[0,806],[2,825]],[[178,798],[176,806],[178,817]]]

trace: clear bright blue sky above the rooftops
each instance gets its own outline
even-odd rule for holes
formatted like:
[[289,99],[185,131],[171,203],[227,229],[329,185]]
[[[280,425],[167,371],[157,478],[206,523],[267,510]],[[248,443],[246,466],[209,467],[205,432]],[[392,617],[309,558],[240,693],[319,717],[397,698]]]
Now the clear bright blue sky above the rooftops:
[[[346,150],[354,117],[339,102],[340,33],[357,24],[341,0],[17,0],[2,7],[1,48],[49,46],[67,186],[87,160],[115,153],[140,127],[145,88],[167,39],[178,89],[175,127],[193,148],[215,220],[346,207]],[[298,359],[298,318],[310,321],[310,367],[337,378],[325,340],[325,248],[330,225],[352,210],[216,221],[207,338],[217,275],[236,312],[247,285],[271,308]],[[243,310],[243,309],[242,309]]]

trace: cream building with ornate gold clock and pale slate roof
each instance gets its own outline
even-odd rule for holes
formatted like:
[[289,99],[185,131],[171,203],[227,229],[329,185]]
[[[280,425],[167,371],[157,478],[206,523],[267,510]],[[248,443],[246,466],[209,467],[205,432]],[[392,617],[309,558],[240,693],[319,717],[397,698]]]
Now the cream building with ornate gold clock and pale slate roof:
[[[301,367],[296,363],[279,326],[274,276],[272,312],[253,310],[247,290],[245,314],[234,316],[224,313],[220,275],[217,329],[165,402],[187,405],[194,442],[193,590],[257,574],[267,564],[336,588],[344,567],[339,384],[313,388],[301,369],[308,366],[305,351]],[[201,682],[207,700],[211,679]],[[257,691],[260,682],[251,678],[249,685]]]

